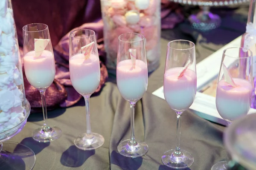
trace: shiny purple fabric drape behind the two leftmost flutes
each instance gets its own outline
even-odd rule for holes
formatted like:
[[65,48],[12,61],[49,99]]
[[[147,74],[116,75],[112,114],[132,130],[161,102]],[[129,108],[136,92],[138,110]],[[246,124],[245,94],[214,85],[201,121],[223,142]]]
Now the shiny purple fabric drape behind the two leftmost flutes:
[[[173,28],[183,20],[180,6],[168,0],[162,0],[161,5],[162,28]],[[12,6],[21,56],[22,27],[29,23],[44,23],[49,26],[56,62],[55,80],[46,92],[49,109],[68,107],[81,99],[81,95],[74,90],[70,82],[68,66],[69,32],[73,29],[88,28],[96,32],[101,60],[101,81],[96,93],[100,91],[108,77],[100,0],[12,0]],[[23,75],[26,98],[34,110],[41,109],[39,92],[29,84],[24,72]]]

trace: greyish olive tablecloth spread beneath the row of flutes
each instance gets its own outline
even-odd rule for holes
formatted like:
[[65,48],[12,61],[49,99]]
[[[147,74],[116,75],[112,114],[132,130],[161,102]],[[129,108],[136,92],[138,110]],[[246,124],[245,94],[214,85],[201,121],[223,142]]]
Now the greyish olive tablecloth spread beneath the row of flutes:
[[[239,11],[240,8],[236,9],[236,14],[240,14]],[[230,17],[237,19],[228,15],[223,19],[224,26],[206,34],[195,34],[182,24],[173,30],[162,31],[162,37],[168,40],[161,39],[160,66],[149,75],[147,92],[143,99],[137,102],[135,110],[135,137],[137,140],[145,141],[149,147],[145,156],[130,159],[117,152],[118,143],[129,139],[130,136],[130,108],[129,103],[119,94],[111,77],[100,95],[90,99],[91,128],[93,132],[104,136],[105,143],[102,147],[83,151],[73,144],[80,133],[86,132],[83,101],[74,107],[48,112],[49,125],[58,126],[62,130],[60,139],[50,143],[35,142],[31,133],[43,124],[43,115],[33,113],[29,116],[24,129],[9,141],[20,142],[35,152],[36,163],[33,170],[170,170],[161,162],[161,156],[165,151],[175,148],[177,118],[166,101],[151,94],[163,85],[167,43],[169,40],[177,39],[178,35],[175,31],[179,32],[179,38],[195,37],[197,62],[200,62],[243,33],[244,20],[239,21],[242,30],[234,31],[233,28],[230,31],[225,27],[225,20]],[[183,33],[180,33],[182,29]],[[190,30],[189,36],[188,30]],[[229,32],[230,40],[226,40],[228,38],[225,31]],[[213,33],[215,37],[212,36]],[[226,38],[227,42],[214,41],[221,38]],[[209,39],[212,42],[209,42]],[[209,170],[214,163],[226,159],[227,152],[222,141],[223,126],[204,120],[191,111],[183,113],[181,126],[181,149],[189,151],[195,159],[194,164],[187,170]]]

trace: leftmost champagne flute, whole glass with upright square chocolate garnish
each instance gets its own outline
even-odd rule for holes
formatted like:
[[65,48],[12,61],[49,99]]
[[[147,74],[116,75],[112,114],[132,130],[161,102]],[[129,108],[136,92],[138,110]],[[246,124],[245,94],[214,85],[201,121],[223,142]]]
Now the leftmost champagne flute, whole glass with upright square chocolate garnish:
[[45,91],[55,77],[55,60],[47,25],[32,23],[23,27],[23,56],[26,78],[41,94],[44,116],[44,125],[34,130],[32,137],[38,142],[54,141],[61,136],[61,129],[47,123]]

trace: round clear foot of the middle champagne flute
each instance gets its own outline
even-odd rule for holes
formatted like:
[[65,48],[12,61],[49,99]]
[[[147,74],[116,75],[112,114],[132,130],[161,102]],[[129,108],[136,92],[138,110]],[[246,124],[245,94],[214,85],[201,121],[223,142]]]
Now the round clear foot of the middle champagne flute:
[[129,141],[129,139],[122,141],[117,146],[117,150],[122,156],[128,158],[137,158],[145,155],[148,152],[148,145],[145,142],[137,142],[137,145],[129,146]]

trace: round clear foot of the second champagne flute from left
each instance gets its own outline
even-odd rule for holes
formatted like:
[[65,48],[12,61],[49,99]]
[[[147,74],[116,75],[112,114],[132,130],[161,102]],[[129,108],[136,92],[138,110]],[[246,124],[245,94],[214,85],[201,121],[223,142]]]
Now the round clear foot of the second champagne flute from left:
[[74,144],[81,150],[94,150],[101,147],[104,144],[105,139],[98,133],[81,134],[75,139]]

